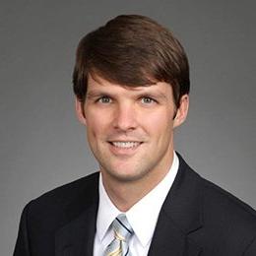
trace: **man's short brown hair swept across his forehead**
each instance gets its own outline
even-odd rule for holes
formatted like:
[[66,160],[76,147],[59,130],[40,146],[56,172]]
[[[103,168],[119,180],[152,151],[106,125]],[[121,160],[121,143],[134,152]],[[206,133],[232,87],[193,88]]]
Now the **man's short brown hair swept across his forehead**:
[[81,39],[73,85],[82,102],[89,74],[131,87],[169,83],[176,106],[189,93],[189,66],[182,45],[167,29],[140,15],[117,16]]

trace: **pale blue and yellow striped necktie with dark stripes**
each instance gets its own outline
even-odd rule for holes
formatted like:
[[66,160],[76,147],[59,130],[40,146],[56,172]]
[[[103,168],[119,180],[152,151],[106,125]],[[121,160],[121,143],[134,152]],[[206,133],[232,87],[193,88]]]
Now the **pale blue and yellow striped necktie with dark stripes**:
[[124,214],[118,215],[111,224],[114,239],[106,247],[104,256],[129,256],[128,242],[133,229]]

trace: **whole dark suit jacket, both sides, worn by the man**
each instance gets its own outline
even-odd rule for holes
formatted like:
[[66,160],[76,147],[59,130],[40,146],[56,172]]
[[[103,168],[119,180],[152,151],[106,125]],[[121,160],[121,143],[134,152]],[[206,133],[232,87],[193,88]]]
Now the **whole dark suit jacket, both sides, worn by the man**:
[[[150,256],[256,256],[256,214],[179,157]],[[91,256],[98,173],[48,192],[24,210],[14,256]],[[150,213],[149,213],[150,214]]]

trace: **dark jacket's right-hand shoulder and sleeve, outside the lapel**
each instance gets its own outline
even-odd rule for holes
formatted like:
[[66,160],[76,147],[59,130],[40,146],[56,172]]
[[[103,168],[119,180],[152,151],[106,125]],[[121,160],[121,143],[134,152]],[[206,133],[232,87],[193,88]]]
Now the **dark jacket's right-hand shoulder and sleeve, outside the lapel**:
[[202,246],[204,255],[256,255],[255,210],[202,177],[181,158],[180,162],[187,190],[200,202],[202,228],[190,237]]

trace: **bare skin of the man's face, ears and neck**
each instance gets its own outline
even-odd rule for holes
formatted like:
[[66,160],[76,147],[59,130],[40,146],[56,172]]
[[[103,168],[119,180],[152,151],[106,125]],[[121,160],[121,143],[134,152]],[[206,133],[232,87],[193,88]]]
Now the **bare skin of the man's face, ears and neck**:
[[[129,210],[169,170],[173,130],[186,119],[188,106],[184,95],[177,109],[164,82],[131,88],[89,76],[85,103],[76,98],[76,112],[87,127],[105,190],[120,211]],[[132,143],[120,147],[124,142]]]

